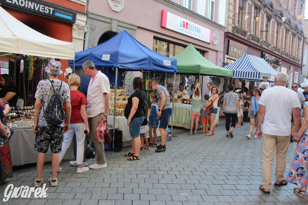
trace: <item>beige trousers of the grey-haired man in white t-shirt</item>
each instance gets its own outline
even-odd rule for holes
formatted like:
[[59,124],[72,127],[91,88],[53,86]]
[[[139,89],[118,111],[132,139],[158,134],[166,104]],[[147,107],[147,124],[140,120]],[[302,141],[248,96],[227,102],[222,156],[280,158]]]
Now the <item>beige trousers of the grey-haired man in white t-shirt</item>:
[[274,159],[274,152],[276,147],[276,171],[275,182],[280,183],[283,180],[283,173],[286,169],[286,154],[290,143],[290,135],[263,135],[263,163],[262,176],[264,189],[270,189],[272,185],[272,163]]

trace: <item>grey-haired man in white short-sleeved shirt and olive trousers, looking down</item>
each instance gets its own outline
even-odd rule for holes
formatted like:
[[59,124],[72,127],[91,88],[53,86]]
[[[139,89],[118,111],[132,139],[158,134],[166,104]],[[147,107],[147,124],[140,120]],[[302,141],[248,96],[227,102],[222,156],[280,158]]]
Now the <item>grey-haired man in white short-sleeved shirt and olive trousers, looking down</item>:
[[[92,61],[86,61],[82,65],[82,69],[87,76],[91,76],[87,91],[87,117],[89,123],[89,140],[93,139],[93,143],[97,153],[97,162],[89,168],[99,169],[107,167],[104,143],[100,143],[94,139],[96,127],[101,120],[106,121],[109,109],[110,83],[109,79],[101,71],[96,70]],[[85,149],[87,150],[87,142],[85,141]],[[87,162],[87,159],[83,159]]]

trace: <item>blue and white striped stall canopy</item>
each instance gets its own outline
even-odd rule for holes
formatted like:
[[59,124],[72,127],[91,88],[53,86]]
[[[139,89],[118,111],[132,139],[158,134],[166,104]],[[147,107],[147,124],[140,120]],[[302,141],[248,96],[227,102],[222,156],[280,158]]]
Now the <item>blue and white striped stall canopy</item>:
[[278,73],[263,58],[245,54],[233,63],[223,68],[233,70],[233,78],[262,79],[263,75],[268,75],[269,80],[274,81]]

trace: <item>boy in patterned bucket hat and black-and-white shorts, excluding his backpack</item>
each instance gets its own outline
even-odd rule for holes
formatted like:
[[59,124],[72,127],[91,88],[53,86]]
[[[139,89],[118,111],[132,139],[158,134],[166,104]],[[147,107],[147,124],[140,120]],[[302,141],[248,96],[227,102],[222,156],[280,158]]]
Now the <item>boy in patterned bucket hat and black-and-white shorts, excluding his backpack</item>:
[[[70,126],[70,88],[67,83],[58,79],[58,76],[63,73],[61,70],[61,63],[59,61],[49,61],[48,65],[44,68],[44,71],[47,72],[49,79],[41,80],[39,82],[36,88],[36,100],[34,103],[34,150],[39,152],[37,158],[37,177],[34,181],[34,187],[41,187],[42,185],[42,172],[46,152],[48,151],[49,146],[52,153],[52,175],[48,181],[50,181],[52,187],[55,187],[58,185],[57,170],[59,167],[59,153],[62,148],[63,132],[67,132]],[[52,125],[44,119],[44,111],[47,110],[48,103],[55,93],[59,93],[62,102],[66,103],[66,124],[63,122],[60,125]]]

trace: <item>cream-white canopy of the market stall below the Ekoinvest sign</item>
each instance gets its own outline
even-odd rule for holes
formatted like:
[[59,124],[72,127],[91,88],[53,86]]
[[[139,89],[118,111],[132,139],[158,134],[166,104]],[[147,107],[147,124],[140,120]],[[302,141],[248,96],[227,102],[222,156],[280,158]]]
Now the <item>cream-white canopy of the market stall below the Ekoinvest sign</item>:
[[60,41],[31,29],[1,6],[0,28],[1,58],[24,54],[45,58],[75,59],[74,43]]

